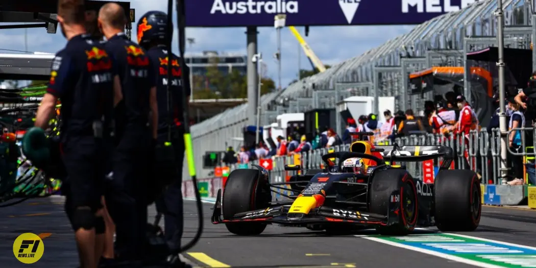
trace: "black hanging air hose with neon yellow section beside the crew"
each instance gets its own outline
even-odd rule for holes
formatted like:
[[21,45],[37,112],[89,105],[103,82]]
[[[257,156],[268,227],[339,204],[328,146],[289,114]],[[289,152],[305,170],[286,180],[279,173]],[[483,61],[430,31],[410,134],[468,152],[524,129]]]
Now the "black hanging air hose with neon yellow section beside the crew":
[[[177,28],[178,28],[178,51],[180,53],[180,65],[185,70],[187,67],[186,62],[184,60],[184,47],[185,47],[185,31],[186,31],[186,16],[185,16],[185,10],[184,10],[184,1],[185,0],[177,0]],[[168,0],[168,25],[173,25],[173,0]],[[173,30],[172,30],[173,33]],[[173,36],[172,34],[169,36]],[[171,40],[173,38],[169,38],[169,43],[171,44]],[[171,46],[169,46],[171,48]],[[169,51],[171,53],[171,51]],[[169,58],[171,59],[171,58]],[[172,61],[168,61],[168,70],[171,67]],[[186,84],[186,78],[188,73],[183,72],[181,75],[181,82],[183,87],[187,87],[189,85]],[[171,81],[168,81],[168,85],[171,83]],[[193,94],[193,90],[191,90],[191,94]],[[190,134],[190,113],[188,110],[188,95],[183,90],[182,91],[182,107],[183,107],[183,118],[184,118],[184,148],[186,150],[186,158],[188,161],[188,172],[190,174],[192,184],[193,184],[193,191],[196,195],[196,205],[197,205],[197,215],[198,215],[198,226],[197,226],[197,232],[196,235],[193,236],[193,239],[188,242],[187,244],[183,245],[180,249],[180,252],[187,251],[191,249],[199,239],[201,238],[201,234],[203,233],[203,204],[201,202],[201,195],[199,193],[199,189],[197,188],[197,175],[196,175],[196,166],[193,159],[193,148],[192,148],[192,137]]]

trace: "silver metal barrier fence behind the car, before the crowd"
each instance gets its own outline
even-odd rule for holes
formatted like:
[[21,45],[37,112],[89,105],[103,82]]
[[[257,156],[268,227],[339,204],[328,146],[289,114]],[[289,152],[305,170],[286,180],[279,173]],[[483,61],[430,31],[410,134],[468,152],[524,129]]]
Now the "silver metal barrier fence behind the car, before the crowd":
[[[507,132],[506,135],[510,135],[512,131],[522,131],[522,150],[520,152],[513,152],[511,148],[508,148],[509,155],[517,155],[523,157],[525,163],[527,157],[534,157],[533,150],[526,150],[527,147],[532,147],[534,141],[536,141],[536,130],[533,128],[519,128],[512,129]],[[409,137],[396,138],[393,141],[384,141],[378,145],[392,145],[397,143],[399,146],[404,145],[442,145],[449,146],[454,149],[455,160],[454,165],[457,169],[471,169],[474,170],[481,178],[483,184],[504,184],[507,178],[501,178],[501,161],[509,161],[508,159],[501,159],[501,135],[499,129],[486,128],[481,130],[474,130],[470,132],[468,136],[443,136],[436,134],[423,134],[412,135]],[[527,144],[527,135],[533,137],[531,144]],[[322,155],[328,152],[349,151],[350,144],[344,144],[334,146],[330,149],[319,148],[305,153],[296,153],[288,156],[272,157],[273,169],[271,170],[271,177],[273,182],[284,182],[286,177],[291,175],[285,170],[285,165],[301,165],[304,170],[310,169],[322,169],[323,161]],[[529,151],[529,152],[527,152]],[[260,160],[250,161],[248,166],[252,164],[259,165]],[[434,161],[434,166],[439,167],[441,159]],[[397,164],[399,164],[397,162]],[[405,165],[407,170],[415,177],[422,180],[423,178],[423,163],[422,162],[407,162],[400,163]],[[508,165],[511,166],[511,165]],[[239,168],[239,165],[232,165],[230,170]],[[525,184],[528,184],[528,180],[524,173]]]

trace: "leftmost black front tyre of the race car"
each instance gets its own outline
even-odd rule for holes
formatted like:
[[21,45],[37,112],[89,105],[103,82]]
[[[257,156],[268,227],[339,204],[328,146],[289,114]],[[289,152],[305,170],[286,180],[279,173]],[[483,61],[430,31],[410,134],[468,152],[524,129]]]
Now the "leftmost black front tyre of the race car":
[[[256,169],[236,169],[229,174],[222,197],[224,220],[236,213],[264,209],[271,201],[270,187],[265,178],[259,177]],[[238,222],[225,224],[229,232],[236,235],[258,235],[266,224]]]

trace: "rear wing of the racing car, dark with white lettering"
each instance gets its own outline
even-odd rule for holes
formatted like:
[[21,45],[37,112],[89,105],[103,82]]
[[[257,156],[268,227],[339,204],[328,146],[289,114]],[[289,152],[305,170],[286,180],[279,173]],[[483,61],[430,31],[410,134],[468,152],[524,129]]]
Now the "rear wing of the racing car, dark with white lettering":
[[[448,146],[375,146],[385,161],[420,162],[442,157],[454,159],[454,150]],[[449,161],[449,162],[450,162]]]

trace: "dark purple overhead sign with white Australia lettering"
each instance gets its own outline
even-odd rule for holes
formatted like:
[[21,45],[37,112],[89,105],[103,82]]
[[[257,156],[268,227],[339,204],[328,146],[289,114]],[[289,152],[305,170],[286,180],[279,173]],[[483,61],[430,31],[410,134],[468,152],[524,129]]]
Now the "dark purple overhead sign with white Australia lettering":
[[186,0],[188,27],[415,25],[477,0]]

